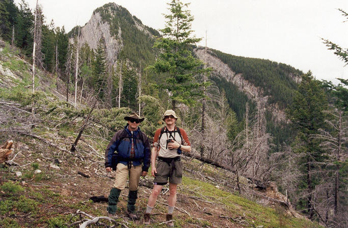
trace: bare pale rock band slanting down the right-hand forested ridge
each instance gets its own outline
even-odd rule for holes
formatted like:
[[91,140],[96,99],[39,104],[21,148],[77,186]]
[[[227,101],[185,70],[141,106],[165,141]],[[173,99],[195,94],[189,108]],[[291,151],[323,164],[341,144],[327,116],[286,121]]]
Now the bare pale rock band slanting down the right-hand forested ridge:
[[[229,66],[223,63],[217,56],[201,48],[194,50],[197,58],[207,64],[208,67],[213,68],[213,74],[225,78],[228,82],[233,83],[240,92],[243,92],[252,101],[260,102],[260,104],[266,107],[267,110],[272,112],[272,121],[276,123],[288,122],[284,110],[281,110],[277,104],[267,104],[270,96],[264,96],[262,88],[256,87],[253,83],[245,80],[242,74],[236,74]],[[295,75],[289,75],[293,79],[299,80]]]

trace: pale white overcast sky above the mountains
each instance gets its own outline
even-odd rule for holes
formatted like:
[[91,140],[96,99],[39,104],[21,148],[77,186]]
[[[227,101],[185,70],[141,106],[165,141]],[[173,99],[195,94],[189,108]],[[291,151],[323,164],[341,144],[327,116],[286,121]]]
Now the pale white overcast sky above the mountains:
[[[16,3],[20,2],[15,0]],[[34,9],[36,0],[26,0]],[[143,24],[163,29],[170,0],[39,0],[46,17],[69,32],[84,25],[93,10],[115,2]],[[184,0],[184,3],[189,1]],[[192,29],[204,37],[199,45],[220,51],[285,63],[317,79],[348,79],[348,66],[320,38],[348,47],[348,22],[337,9],[348,11],[347,0],[192,0]]]

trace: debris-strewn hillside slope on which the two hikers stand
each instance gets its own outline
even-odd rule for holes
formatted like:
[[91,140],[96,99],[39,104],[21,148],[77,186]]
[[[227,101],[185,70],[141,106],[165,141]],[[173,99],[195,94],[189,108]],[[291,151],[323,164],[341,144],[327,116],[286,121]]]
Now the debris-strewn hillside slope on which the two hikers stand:
[[[61,91],[56,90],[55,76],[40,70],[33,120],[31,64],[20,56],[19,49],[0,42],[0,145],[13,140],[14,149],[10,161],[0,164],[0,226],[67,227],[90,219],[81,211],[92,217],[106,216],[106,203],[92,203],[89,198],[107,196],[110,191],[114,179],[104,171],[103,151],[114,132],[110,128],[120,129],[130,110],[93,111],[77,150],[71,153],[71,144],[90,107],[84,100],[77,109],[64,102]],[[58,83],[64,91],[63,83]],[[277,202],[283,199],[272,198],[279,196],[276,190],[253,191],[242,178],[240,195],[233,173],[194,159],[183,160],[184,178],[174,211],[176,227],[321,227],[280,206]],[[136,205],[141,218],[151,180],[149,175],[141,180]],[[116,226],[142,227],[142,219],[132,222],[125,217],[126,195],[127,189],[121,195]],[[153,227],[166,227],[167,195],[165,187],[154,209]],[[102,222],[111,225],[107,220]]]

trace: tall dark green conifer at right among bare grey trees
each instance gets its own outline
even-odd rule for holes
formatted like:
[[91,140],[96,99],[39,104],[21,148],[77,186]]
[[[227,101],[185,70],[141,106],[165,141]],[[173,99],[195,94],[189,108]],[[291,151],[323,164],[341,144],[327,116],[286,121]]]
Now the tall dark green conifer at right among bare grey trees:
[[[317,183],[318,175],[313,174],[313,170],[318,167],[318,162],[323,161],[323,151],[318,147],[318,143],[311,138],[312,134],[317,134],[319,128],[325,126],[325,113],[327,100],[321,83],[316,80],[309,71],[302,76],[302,82],[293,98],[293,103],[288,107],[287,116],[292,122],[292,127],[298,131],[298,138],[302,141],[301,170],[306,177],[299,188],[307,189],[304,196],[306,202],[302,202],[307,208],[309,217],[314,216],[313,210],[313,191]],[[301,202],[300,202],[301,204]]]

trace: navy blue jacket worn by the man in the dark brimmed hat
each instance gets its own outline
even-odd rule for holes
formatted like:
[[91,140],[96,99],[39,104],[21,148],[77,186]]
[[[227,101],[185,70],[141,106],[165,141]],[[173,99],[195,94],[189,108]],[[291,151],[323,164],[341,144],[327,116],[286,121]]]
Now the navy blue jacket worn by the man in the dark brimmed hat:
[[143,163],[143,171],[147,172],[150,167],[150,144],[146,134],[138,129],[133,131],[133,136],[128,130],[128,124],[123,130],[115,133],[108,147],[105,150],[105,167],[112,167],[114,170],[118,163],[127,165],[130,161],[131,137],[134,141],[135,157],[131,160],[137,166]]

